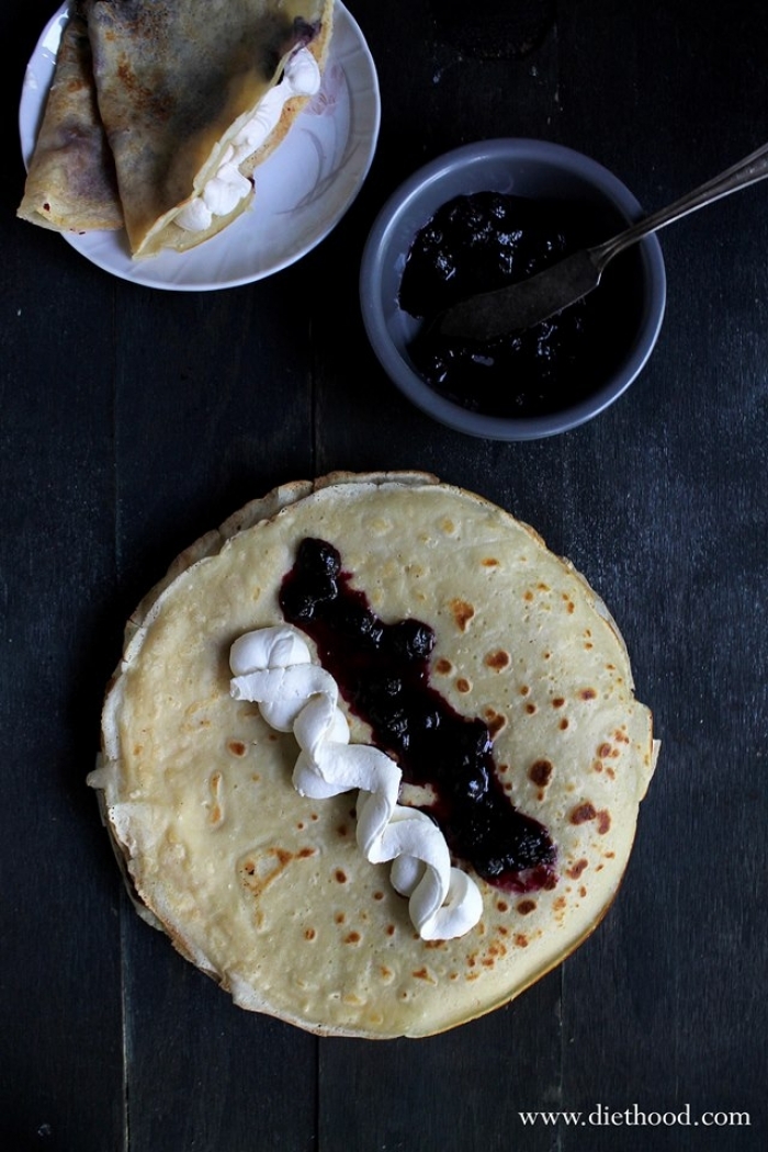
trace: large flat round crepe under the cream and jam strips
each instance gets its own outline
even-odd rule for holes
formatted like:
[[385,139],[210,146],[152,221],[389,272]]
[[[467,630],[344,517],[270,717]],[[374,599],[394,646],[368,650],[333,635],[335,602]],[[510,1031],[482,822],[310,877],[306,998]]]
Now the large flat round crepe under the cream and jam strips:
[[[307,537],[339,550],[381,621],[433,629],[431,689],[487,725],[503,796],[554,843],[527,890],[458,859],[482,896],[458,939],[418,935],[388,866],[357,847],[353,794],[301,796],[294,735],[230,696],[230,646],[283,621]],[[147,594],[89,782],[143,915],[236,1003],[322,1034],[421,1037],[508,1002],[592,932],[655,757],[616,626],[534,531],[424,473],[336,473],[249,505]]]

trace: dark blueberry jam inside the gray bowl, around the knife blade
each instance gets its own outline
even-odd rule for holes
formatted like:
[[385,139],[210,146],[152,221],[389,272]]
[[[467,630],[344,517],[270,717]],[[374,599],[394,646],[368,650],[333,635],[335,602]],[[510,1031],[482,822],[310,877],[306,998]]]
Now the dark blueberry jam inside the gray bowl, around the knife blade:
[[[623,222],[587,204],[502,192],[457,196],[418,233],[400,306],[429,319],[477,293],[525,280]],[[549,320],[487,343],[442,336],[425,325],[409,347],[435,392],[488,416],[543,416],[604,384],[631,346],[640,316],[637,252],[617,257],[600,286]]]

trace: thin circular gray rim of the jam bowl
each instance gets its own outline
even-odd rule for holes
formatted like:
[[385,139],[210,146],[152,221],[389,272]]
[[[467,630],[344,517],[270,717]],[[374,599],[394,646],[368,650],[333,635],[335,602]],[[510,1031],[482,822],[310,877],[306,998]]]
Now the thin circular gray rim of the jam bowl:
[[[598,160],[564,144],[533,137],[494,137],[451,149],[423,165],[387,198],[377,214],[364,245],[359,272],[359,301],[363,323],[382,367],[395,386],[428,416],[456,431],[496,440],[534,440],[570,431],[593,419],[626,392],[645,367],[656,343],[667,302],[667,278],[661,245],[655,235],[636,244],[644,278],[644,306],[637,336],[621,369],[587,399],[546,416],[501,417],[473,412],[441,396],[402,357],[393,343],[385,316],[381,282],[389,237],[415,202],[439,187],[461,168],[486,161],[512,160],[539,162],[564,168],[595,187],[628,220],[642,215],[637,197],[613,172]],[[429,215],[436,211],[433,209]],[[426,223],[429,215],[424,218]],[[395,305],[396,306],[396,305]]]

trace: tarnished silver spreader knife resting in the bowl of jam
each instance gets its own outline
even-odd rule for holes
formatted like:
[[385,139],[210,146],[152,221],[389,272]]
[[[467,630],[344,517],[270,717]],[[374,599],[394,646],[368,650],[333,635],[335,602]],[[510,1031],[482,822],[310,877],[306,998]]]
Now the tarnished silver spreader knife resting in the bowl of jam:
[[611,240],[568,256],[530,280],[459,301],[433,321],[433,328],[438,328],[444,336],[476,341],[494,340],[510,332],[530,328],[596,288],[609,260],[630,244],[679,220],[689,212],[713,204],[739,188],[748,188],[766,176],[768,144]]

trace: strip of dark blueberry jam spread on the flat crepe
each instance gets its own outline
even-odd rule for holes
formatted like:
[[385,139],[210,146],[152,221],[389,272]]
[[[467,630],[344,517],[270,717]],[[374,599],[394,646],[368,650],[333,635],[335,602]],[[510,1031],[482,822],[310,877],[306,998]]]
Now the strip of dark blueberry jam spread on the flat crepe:
[[507,890],[554,886],[555,847],[505,795],[488,727],[461,717],[429,684],[433,630],[413,619],[383,623],[350,579],[333,545],[302,540],[280,591],[286,620],[312,637],[322,667],[403,780],[431,786],[435,801],[425,811],[454,856]]

